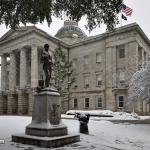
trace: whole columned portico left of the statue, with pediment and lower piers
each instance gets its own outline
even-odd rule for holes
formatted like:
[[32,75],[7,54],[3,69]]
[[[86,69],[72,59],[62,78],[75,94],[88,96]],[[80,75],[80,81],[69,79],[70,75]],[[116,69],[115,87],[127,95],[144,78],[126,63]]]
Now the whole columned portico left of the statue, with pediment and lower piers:
[[[41,36],[45,36],[42,41]],[[33,93],[43,74],[39,56],[47,41],[34,26],[9,31],[1,38],[0,114],[31,115]],[[53,42],[50,45],[56,47]]]

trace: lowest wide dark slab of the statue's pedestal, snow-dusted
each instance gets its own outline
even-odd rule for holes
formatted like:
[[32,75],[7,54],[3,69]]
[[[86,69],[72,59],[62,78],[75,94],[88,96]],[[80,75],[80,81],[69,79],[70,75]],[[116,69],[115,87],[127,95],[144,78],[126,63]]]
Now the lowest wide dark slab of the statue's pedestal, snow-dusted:
[[45,148],[59,147],[79,141],[80,141],[79,135],[65,135],[59,137],[39,137],[26,134],[12,135],[12,142]]

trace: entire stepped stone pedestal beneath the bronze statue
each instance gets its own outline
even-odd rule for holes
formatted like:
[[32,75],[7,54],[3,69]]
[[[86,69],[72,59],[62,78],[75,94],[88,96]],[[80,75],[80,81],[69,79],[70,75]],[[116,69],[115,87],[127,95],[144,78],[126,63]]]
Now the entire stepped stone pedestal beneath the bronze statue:
[[56,90],[44,89],[34,95],[32,122],[25,134],[12,135],[13,142],[40,147],[58,147],[80,141],[79,135],[68,135],[61,122],[60,95]]

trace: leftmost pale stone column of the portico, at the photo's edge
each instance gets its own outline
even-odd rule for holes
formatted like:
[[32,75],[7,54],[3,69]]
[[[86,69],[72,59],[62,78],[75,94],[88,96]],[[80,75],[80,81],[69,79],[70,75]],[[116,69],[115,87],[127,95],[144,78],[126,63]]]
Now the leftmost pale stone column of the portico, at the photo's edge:
[[1,56],[1,90],[6,90],[6,81],[7,81],[7,57],[6,55]]

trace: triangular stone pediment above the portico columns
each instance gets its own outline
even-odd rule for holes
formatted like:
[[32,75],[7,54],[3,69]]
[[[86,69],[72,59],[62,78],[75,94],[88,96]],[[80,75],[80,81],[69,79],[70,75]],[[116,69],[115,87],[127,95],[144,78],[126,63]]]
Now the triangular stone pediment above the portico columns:
[[31,29],[35,28],[34,26],[26,26],[26,27],[19,27],[15,30],[10,29],[7,33],[5,33],[1,38],[0,41],[5,41],[5,40],[9,40],[12,37],[16,37],[19,36]]

